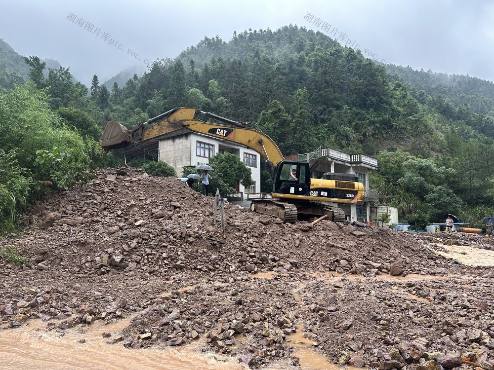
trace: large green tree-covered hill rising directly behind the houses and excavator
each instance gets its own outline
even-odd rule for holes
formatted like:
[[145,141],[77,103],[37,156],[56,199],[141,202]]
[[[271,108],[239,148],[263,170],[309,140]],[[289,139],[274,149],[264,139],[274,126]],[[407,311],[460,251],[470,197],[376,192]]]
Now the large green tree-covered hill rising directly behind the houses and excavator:
[[[89,88],[74,83],[63,67],[44,77],[42,62],[35,56],[28,61],[31,81],[1,92],[0,120],[18,124],[3,130],[1,143],[34,124],[34,118],[26,123],[26,114],[15,105],[21,98],[34,99],[50,117],[52,129],[72,130],[85,143],[75,148],[78,158],[84,158],[81,164],[90,168],[105,164],[95,140],[109,120],[132,127],[171,108],[189,106],[257,123],[285,155],[329,146],[377,156],[381,169],[372,177],[372,187],[399,208],[402,221],[442,220],[450,212],[478,222],[494,211],[494,169],[487,165],[494,149],[492,112],[456,106],[445,95],[428,93],[432,90],[425,82],[423,88],[411,87],[321,33],[290,25],[234,34],[228,42],[205,38],[176,60],[156,62],[142,77],[134,74],[110,89],[96,75]],[[487,93],[484,98],[490,99]],[[29,147],[21,135],[0,147],[5,158],[18,161],[17,174],[35,184],[23,185],[28,186],[27,198],[34,188],[70,182],[60,183],[53,166],[21,171],[28,163],[24,158],[41,161],[37,156],[45,152],[33,151],[53,153],[54,143]],[[67,146],[56,150],[71,152]],[[104,160],[115,163],[112,157]],[[1,186],[5,194],[15,187],[0,172]]]

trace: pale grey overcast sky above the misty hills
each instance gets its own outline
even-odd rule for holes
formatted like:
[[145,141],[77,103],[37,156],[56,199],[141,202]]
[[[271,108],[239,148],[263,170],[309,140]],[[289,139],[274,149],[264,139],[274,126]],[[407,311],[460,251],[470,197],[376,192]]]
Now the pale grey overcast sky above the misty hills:
[[[104,81],[135,64],[174,58],[205,36],[228,41],[234,31],[275,31],[290,23],[317,31],[325,22],[331,28],[323,32],[337,29],[332,37],[346,37],[343,44],[352,40],[350,45],[379,61],[494,80],[494,1],[489,0],[0,3],[0,38],[21,55],[70,66],[88,86],[93,74]],[[312,22],[304,19],[307,13]]]

